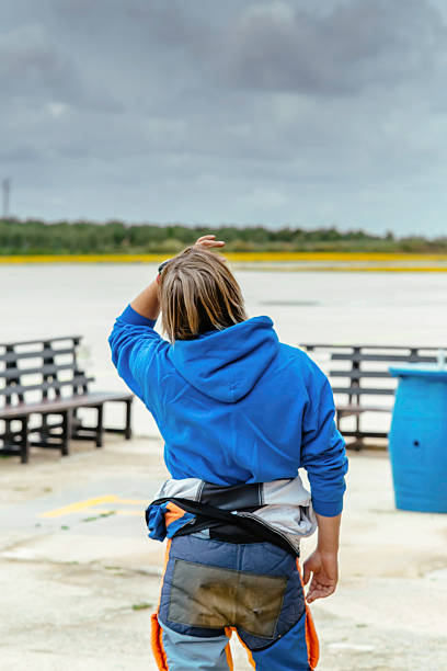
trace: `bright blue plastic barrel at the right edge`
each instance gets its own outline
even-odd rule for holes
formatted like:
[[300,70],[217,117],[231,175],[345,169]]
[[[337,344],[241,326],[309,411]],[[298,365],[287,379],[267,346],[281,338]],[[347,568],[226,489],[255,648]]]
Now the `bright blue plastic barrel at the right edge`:
[[389,434],[396,507],[447,513],[447,369],[390,373],[399,377]]

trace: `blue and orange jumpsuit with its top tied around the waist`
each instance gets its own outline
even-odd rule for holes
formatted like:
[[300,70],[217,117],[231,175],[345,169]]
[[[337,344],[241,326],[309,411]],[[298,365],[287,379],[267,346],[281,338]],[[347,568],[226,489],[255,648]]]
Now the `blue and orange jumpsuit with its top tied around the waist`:
[[233,632],[260,671],[316,668],[298,558],[317,522],[299,477],[232,487],[170,479],[146,520],[150,537],[168,538],[151,633],[161,671],[232,669]]

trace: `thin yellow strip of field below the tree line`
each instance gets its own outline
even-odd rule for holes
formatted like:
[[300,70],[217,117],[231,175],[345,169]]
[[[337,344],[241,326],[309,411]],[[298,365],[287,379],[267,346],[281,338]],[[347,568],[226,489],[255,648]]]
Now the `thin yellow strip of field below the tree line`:
[[[234,263],[294,263],[290,270],[344,272],[447,272],[447,254],[363,252],[228,252]],[[160,263],[169,254],[42,254],[0,257],[0,264],[20,263]],[[289,266],[288,266],[289,268]]]

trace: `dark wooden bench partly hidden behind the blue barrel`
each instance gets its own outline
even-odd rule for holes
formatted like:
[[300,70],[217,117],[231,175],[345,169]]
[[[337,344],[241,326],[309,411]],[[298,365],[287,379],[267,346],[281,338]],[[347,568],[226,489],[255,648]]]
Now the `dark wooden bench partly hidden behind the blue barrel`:
[[[396,363],[435,363],[436,348],[398,345],[328,345],[302,343],[299,345],[317,357],[329,360],[325,369],[331,380],[336,406],[336,422],[343,436],[355,440],[349,447],[360,450],[363,439],[387,439],[388,432],[371,431],[360,427],[364,412],[392,412],[397,379],[391,377],[388,367]],[[318,362],[320,363],[320,362]],[[325,366],[321,363],[321,367]],[[378,403],[376,399],[386,400]],[[355,428],[341,427],[342,419],[355,417]]]

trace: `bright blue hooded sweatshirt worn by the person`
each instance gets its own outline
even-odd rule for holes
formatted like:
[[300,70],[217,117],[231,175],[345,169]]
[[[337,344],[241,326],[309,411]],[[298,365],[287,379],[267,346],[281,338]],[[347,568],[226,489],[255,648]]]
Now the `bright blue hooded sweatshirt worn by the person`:
[[295,478],[317,513],[337,515],[347,470],[328,378],[283,344],[270,317],[170,344],[128,306],[108,339],[121,377],[152,413],[175,479],[216,485]]

